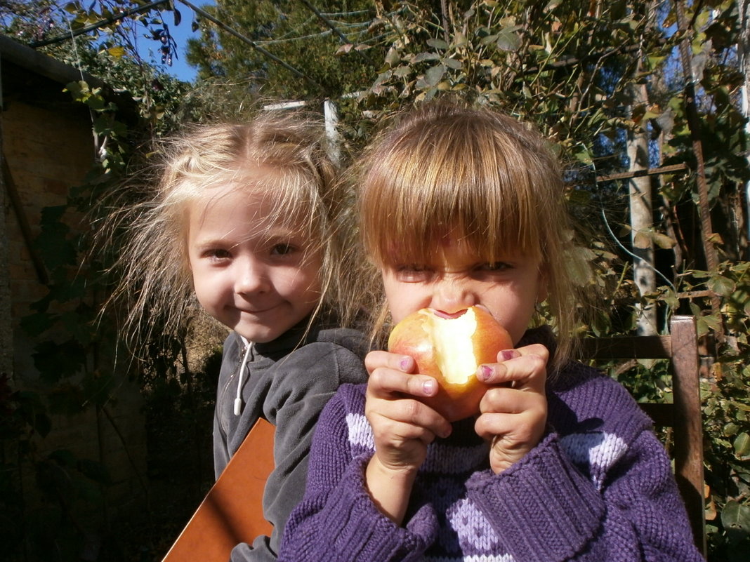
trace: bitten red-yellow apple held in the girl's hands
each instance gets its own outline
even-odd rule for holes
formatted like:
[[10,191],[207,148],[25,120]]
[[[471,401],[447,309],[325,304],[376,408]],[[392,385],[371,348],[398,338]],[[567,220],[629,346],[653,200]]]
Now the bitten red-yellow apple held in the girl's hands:
[[505,328],[477,306],[455,315],[418,310],[396,324],[388,339],[389,351],[410,355],[416,372],[437,379],[437,394],[422,402],[450,422],[478,413],[487,385],[476,377],[476,369],[496,363],[499,351],[512,347]]

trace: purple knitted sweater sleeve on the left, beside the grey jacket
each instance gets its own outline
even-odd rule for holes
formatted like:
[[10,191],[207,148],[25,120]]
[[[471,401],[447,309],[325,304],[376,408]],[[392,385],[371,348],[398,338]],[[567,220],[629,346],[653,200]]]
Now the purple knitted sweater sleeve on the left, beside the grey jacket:
[[367,435],[364,428],[358,432],[349,427],[356,418],[347,416],[340,396],[323,411],[307,492],[287,523],[279,561],[418,561],[434,542],[437,519],[429,504],[420,507],[405,528],[375,507],[364,475],[372,453],[361,442],[353,451],[352,441]]

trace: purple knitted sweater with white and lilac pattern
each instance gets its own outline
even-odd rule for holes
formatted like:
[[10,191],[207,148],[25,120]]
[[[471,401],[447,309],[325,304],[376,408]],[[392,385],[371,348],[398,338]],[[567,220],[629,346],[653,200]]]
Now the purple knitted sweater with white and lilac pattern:
[[[546,339],[533,332],[524,343]],[[547,399],[547,435],[501,474],[473,419],[434,441],[399,527],[365,487],[365,385],[340,387],[320,416],[279,561],[703,561],[664,447],[627,390],[569,363]]]

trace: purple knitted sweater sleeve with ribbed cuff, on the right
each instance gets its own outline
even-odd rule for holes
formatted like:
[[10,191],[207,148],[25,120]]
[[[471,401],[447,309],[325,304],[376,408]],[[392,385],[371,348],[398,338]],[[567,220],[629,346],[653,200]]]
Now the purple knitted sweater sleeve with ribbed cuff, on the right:
[[548,435],[507,471],[475,474],[469,497],[517,561],[703,561],[655,435],[646,429],[596,454],[613,453],[598,480]]

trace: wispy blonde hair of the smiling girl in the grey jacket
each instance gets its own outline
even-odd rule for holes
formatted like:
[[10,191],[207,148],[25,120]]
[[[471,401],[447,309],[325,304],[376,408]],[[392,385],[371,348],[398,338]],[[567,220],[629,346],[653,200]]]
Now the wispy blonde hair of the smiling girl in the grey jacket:
[[[347,283],[352,271],[346,238],[349,193],[326,154],[323,124],[296,113],[260,112],[245,123],[190,127],[160,147],[156,181],[145,199],[122,211],[125,242],[115,271],[116,297],[130,297],[125,326],[141,339],[154,329],[173,333],[200,307],[187,257],[187,205],[226,185],[259,189],[245,172],[269,169],[260,189],[275,197],[271,224],[305,225],[311,252],[320,253],[322,297],[314,315],[330,314],[347,324],[356,314]],[[144,335],[145,334],[145,335]]]

